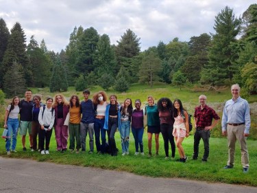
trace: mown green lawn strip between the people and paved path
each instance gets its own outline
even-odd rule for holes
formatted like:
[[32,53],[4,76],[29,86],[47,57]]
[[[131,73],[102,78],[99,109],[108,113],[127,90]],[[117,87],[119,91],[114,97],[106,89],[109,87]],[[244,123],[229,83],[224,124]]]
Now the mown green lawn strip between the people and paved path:
[[[0,133],[3,129],[0,129]],[[65,152],[56,152],[56,140],[54,135],[51,137],[50,155],[40,155],[39,152],[22,151],[21,137],[18,137],[16,150],[12,153],[11,158],[34,159],[36,161],[50,161],[53,163],[71,164],[76,166],[90,166],[95,168],[103,168],[108,170],[133,172],[149,177],[180,177],[186,179],[195,179],[199,181],[223,182],[257,186],[257,146],[256,141],[248,140],[247,146],[249,150],[250,168],[248,174],[243,174],[241,166],[241,152],[237,144],[235,166],[231,170],[222,169],[226,165],[228,159],[227,140],[220,138],[210,138],[210,157],[207,163],[201,163],[201,157],[204,151],[202,141],[199,147],[199,159],[193,161],[193,135],[184,139],[184,149],[188,156],[186,163],[179,163],[175,160],[164,159],[164,147],[162,135],[160,135],[160,155],[158,157],[147,158],[147,133],[144,133],[144,150],[145,156],[135,156],[134,138],[130,133],[130,155],[121,156],[121,143],[119,133],[116,133],[117,148],[119,155],[111,157],[110,155],[93,155]],[[28,147],[28,138],[26,141]],[[5,152],[5,142],[0,140],[0,155],[8,157]],[[153,144],[153,148],[154,148]],[[88,151],[88,139],[86,141],[86,150]],[[155,148],[153,149],[155,152]],[[178,151],[176,151],[175,159],[178,159]]]

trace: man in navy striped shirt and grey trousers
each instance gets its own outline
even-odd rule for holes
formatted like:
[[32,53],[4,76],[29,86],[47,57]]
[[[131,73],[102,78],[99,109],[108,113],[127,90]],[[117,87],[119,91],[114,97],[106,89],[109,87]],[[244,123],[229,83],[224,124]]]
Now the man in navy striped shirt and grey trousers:
[[82,152],[86,152],[86,135],[89,135],[89,154],[94,151],[94,120],[95,110],[92,100],[89,99],[90,91],[87,89],[83,91],[84,100],[80,104],[80,111],[82,119],[80,121],[80,135]]

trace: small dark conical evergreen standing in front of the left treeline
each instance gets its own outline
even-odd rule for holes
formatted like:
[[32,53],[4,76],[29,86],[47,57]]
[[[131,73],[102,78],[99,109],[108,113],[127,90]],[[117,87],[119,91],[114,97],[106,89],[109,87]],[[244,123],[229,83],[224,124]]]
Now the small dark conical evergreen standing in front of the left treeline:
[[57,56],[56,63],[53,65],[53,72],[50,80],[50,92],[67,91],[68,87],[66,71],[62,65],[60,56]]

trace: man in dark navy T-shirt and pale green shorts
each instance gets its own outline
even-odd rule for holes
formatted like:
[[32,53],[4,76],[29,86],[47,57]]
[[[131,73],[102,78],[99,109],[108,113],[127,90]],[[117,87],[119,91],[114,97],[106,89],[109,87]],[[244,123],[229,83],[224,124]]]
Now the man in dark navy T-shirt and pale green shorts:
[[27,131],[29,133],[29,147],[33,147],[33,138],[32,138],[32,91],[27,90],[25,92],[25,100],[21,100],[20,102],[20,135],[21,142],[23,144],[23,151],[27,150],[25,146]]

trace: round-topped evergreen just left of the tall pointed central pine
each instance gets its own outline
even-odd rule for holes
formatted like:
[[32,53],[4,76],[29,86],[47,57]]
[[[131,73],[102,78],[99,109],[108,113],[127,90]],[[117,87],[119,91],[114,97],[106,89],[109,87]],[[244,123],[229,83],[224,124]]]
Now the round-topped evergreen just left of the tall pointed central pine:
[[97,43],[97,49],[94,56],[94,65],[97,75],[101,77],[103,73],[114,75],[117,69],[117,61],[114,54],[114,49],[110,45],[110,38],[107,34],[100,36]]

